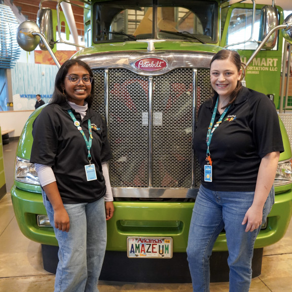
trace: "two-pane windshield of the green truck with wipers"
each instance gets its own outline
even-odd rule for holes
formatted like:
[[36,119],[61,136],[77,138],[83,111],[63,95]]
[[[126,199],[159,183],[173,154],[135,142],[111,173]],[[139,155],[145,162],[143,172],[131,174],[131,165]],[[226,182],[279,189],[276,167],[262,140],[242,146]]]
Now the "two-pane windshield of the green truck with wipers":
[[212,1],[99,2],[94,5],[94,43],[154,38],[215,43],[217,9]]

